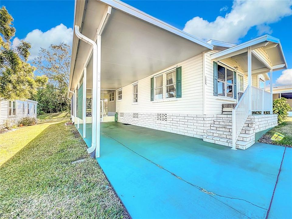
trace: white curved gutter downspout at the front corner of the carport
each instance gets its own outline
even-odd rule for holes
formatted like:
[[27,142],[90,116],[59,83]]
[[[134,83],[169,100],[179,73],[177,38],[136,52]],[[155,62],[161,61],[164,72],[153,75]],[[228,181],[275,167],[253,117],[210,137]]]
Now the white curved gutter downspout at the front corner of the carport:
[[[98,140],[99,144],[99,133],[96,134],[96,124],[97,124],[97,82],[100,83],[100,80],[97,80],[97,44],[89,39],[88,37],[82,35],[79,31],[79,26],[75,25],[75,34],[85,43],[90,44],[93,49],[93,66],[92,66],[92,142],[91,147],[87,148],[87,152],[90,154],[96,150],[96,141]],[[100,77],[100,75],[99,75]],[[100,87],[100,86],[99,86]],[[100,95],[99,95],[100,96]],[[98,137],[98,139],[96,139]]]

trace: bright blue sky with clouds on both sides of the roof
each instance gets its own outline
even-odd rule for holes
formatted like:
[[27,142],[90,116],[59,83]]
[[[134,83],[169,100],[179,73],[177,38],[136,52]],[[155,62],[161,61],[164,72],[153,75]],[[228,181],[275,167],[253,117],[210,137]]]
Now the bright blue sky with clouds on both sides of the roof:
[[[269,33],[280,39],[288,68],[292,68],[292,15],[290,13],[290,3],[288,3],[288,6],[277,7],[278,5],[283,5],[283,1],[278,1],[276,6],[267,5],[266,8],[257,10],[256,5],[243,5],[244,3],[242,3],[242,5],[236,5],[232,1],[124,2],[181,30],[185,28],[185,31],[193,35],[198,34],[198,31],[192,31],[200,29],[201,34],[196,37],[205,40],[221,37],[222,39],[229,39],[225,41],[241,43],[259,35]],[[1,6],[4,5],[14,18],[14,26],[16,28],[16,39],[14,43],[17,43],[19,39],[26,39],[28,41],[33,40],[35,42],[32,43],[32,55],[37,54],[40,46],[47,47],[50,43],[57,43],[61,40],[64,40],[65,42],[67,41],[68,43],[71,42],[73,33],[74,1],[1,0],[0,4]],[[265,2],[261,2],[261,4],[265,4]],[[247,14],[247,17],[250,18],[250,20],[245,19],[246,22],[241,21],[235,26],[230,26],[230,30],[223,31],[222,29],[212,29],[214,25],[216,26],[216,23],[218,24],[217,26],[224,25],[224,22],[230,22],[232,16],[236,17],[238,13],[241,15],[244,14],[245,8],[248,7],[251,9],[246,13],[250,13]],[[254,9],[255,12],[253,12],[252,9]],[[229,18],[225,17],[226,14],[229,14]],[[264,16],[265,14],[269,15]],[[221,18],[215,21],[218,16],[221,16],[223,19]],[[197,18],[191,21],[194,17]],[[188,26],[185,26],[188,21]],[[212,23],[214,21],[215,24]],[[64,33],[61,36],[57,36],[60,32]],[[292,75],[292,70],[290,71],[289,74]],[[273,83],[276,83],[276,79],[280,77],[281,74],[282,71],[274,73]],[[285,79],[285,77],[282,79]]]

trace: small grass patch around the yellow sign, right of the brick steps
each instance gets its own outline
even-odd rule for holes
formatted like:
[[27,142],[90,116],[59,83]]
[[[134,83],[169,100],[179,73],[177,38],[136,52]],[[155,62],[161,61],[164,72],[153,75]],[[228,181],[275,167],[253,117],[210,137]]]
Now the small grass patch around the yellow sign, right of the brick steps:
[[[285,137],[281,141],[272,141],[271,137],[275,132],[283,134]],[[286,121],[269,130],[259,139],[259,142],[292,147],[292,117],[287,117]]]

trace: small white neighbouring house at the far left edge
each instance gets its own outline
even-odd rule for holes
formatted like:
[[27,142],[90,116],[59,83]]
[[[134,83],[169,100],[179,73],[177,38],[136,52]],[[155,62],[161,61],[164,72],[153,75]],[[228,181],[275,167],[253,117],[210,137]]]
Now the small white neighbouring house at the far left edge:
[[1,100],[0,128],[17,125],[25,116],[36,117],[37,101],[34,100]]

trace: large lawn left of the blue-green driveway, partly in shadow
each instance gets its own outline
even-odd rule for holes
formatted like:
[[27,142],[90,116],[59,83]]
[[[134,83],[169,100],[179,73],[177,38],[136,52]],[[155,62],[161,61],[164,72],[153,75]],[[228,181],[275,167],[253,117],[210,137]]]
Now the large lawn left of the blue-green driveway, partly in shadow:
[[1,134],[0,218],[129,217],[68,119],[42,118]]

